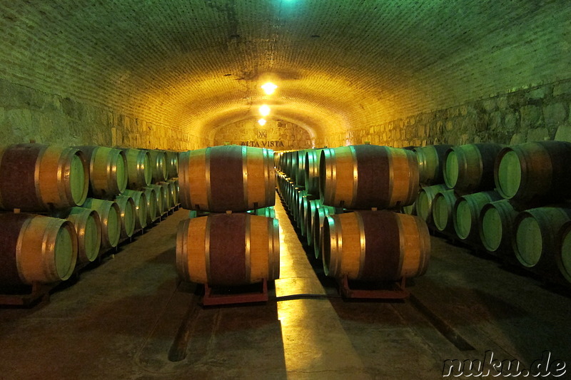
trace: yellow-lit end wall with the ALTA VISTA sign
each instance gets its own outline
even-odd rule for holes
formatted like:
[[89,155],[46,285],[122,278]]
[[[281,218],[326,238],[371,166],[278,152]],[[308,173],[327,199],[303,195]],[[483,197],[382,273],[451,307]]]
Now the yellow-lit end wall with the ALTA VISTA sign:
[[266,125],[257,120],[241,120],[217,128],[211,145],[248,145],[273,150],[312,148],[315,139],[308,130],[283,120],[268,120]]

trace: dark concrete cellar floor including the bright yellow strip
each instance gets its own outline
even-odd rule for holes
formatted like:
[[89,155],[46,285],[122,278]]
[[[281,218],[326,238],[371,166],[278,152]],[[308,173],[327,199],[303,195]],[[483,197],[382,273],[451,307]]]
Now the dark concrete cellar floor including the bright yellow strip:
[[[568,291],[433,237],[410,299],[348,302],[281,204],[271,300],[200,307],[199,289],[177,287],[174,267],[187,215],[175,212],[48,303],[0,308],[0,379],[441,379],[446,359],[488,350],[526,368],[547,350],[571,366]],[[170,361],[169,351],[186,357]]]

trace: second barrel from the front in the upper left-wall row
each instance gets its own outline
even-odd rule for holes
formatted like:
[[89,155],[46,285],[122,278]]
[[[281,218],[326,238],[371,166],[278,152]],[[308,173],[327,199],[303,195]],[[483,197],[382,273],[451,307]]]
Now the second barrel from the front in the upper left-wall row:
[[91,197],[112,199],[127,188],[127,158],[123,150],[103,146],[78,146],[89,163]]

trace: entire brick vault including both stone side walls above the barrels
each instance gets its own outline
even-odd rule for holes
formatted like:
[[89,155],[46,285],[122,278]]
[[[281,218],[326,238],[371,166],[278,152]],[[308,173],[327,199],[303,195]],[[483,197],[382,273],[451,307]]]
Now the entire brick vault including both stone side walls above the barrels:
[[261,103],[330,146],[507,143],[568,121],[565,0],[15,0],[0,13],[8,142],[200,148]]

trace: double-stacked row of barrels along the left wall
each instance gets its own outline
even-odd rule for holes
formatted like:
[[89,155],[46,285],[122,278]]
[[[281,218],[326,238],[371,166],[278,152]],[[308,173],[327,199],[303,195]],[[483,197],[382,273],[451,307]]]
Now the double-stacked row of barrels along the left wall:
[[[0,286],[68,279],[146,225],[147,198],[130,180],[150,174],[151,161],[128,160],[133,151],[149,155],[99,146],[0,148],[0,209],[7,211],[0,214]],[[169,155],[175,165],[178,153]]]

